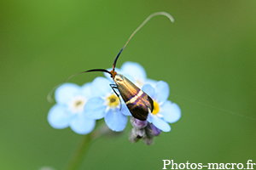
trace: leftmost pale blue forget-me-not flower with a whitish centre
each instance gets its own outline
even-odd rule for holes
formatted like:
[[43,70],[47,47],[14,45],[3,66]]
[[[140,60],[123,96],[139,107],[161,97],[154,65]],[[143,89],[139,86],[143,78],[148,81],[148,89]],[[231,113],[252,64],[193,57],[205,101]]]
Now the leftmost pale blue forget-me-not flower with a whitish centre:
[[82,87],[74,83],[64,83],[55,90],[56,104],[49,110],[47,119],[51,127],[70,127],[75,133],[90,133],[96,121],[84,114],[84,104],[90,99],[90,83]]

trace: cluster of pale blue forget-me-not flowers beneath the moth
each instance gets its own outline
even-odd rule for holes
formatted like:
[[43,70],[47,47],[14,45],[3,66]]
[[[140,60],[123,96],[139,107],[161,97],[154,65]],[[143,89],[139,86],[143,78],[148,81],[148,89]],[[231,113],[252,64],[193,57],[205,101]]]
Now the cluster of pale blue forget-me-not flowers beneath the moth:
[[[75,133],[87,134],[93,131],[96,120],[104,118],[111,130],[121,132],[126,127],[128,116],[131,116],[133,128],[129,136],[130,141],[143,139],[146,144],[152,144],[153,137],[161,131],[171,131],[169,123],[177,122],[181,111],[177,104],[167,100],[168,84],[148,79],[143,66],[137,63],[125,62],[116,70],[153,99],[154,110],[148,114],[147,121],[140,121],[131,116],[123,99],[119,99],[110,88],[109,84],[113,84],[113,80],[109,75],[105,75],[107,78],[96,77],[81,87],[74,83],[64,83],[57,88],[56,104],[48,114],[50,126],[59,129],[70,127]],[[116,93],[119,93],[118,90]]]

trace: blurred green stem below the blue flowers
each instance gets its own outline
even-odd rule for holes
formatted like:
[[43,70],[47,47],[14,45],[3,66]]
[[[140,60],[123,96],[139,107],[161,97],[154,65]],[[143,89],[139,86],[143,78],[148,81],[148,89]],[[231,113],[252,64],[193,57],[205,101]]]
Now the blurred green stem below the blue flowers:
[[76,170],[79,168],[82,161],[84,160],[83,158],[86,152],[88,151],[88,146],[93,139],[92,136],[93,134],[89,133],[83,137],[79,147],[74,151],[73,156],[67,165],[67,170]]

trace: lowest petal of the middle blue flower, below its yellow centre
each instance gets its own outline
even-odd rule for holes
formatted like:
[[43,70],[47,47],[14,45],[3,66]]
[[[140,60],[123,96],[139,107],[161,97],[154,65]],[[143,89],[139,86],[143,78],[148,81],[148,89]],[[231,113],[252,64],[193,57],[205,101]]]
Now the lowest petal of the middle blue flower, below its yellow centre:
[[105,122],[108,127],[116,132],[121,132],[125,129],[128,117],[123,115],[117,108],[115,111],[110,109],[105,116]]

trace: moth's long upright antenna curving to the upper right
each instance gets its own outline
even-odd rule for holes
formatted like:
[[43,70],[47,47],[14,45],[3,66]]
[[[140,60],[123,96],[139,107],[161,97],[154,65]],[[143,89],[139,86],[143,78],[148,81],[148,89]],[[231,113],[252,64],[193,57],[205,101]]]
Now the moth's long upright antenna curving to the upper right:
[[116,62],[117,62],[117,59],[119,58],[119,55],[122,53],[123,49],[126,47],[126,45],[128,44],[128,42],[130,42],[131,40],[131,37],[134,36],[134,34],[136,34],[137,31],[139,31],[147,22],[148,20],[152,19],[154,16],[157,16],[157,15],[165,15],[167,18],[169,18],[171,20],[171,22],[174,22],[174,19],[172,18],[172,15],[171,14],[168,14],[166,12],[156,12],[156,13],[153,13],[153,14],[150,14],[148,16],[148,18],[146,20],[143,21],[143,23],[137,27],[137,29],[135,31],[132,32],[131,36],[129,37],[129,39],[127,40],[127,42],[125,43],[125,46],[123,48],[121,48],[121,50],[119,51],[119,54],[116,56],[116,58],[114,59],[113,61],[113,71],[114,71],[114,68],[115,68],[115,65],[116,65]]

